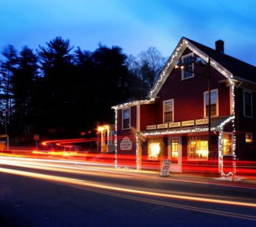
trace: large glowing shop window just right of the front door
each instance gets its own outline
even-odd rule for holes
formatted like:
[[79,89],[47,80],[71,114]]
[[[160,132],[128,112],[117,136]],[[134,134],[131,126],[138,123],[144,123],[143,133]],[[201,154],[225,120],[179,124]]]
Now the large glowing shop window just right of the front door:
[[188,159],[208,159],[208,136],[188,136]]

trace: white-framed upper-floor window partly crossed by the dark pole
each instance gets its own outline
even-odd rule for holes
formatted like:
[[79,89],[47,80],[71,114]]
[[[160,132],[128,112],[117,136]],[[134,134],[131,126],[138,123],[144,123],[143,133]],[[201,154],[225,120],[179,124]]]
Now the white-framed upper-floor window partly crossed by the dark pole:
[[[209,92],[204,92],[204,117],[209,116]],[[218,89],[211,90],[211,116],[219,115]]]

